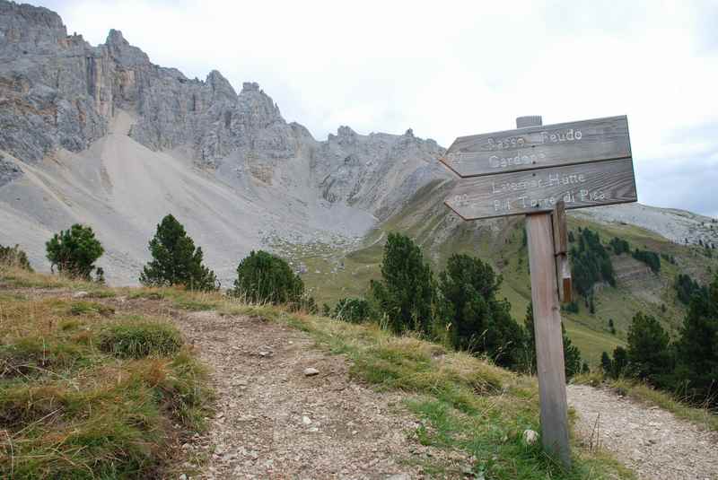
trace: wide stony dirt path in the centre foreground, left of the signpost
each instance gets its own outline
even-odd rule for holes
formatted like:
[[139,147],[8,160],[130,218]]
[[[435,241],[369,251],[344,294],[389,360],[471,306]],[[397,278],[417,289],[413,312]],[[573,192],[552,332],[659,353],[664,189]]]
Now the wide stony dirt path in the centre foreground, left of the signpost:
[[210,432],[183,446],[209,458],[205,478],[423,478],[422,458],[447,455],[411,440],[397,394],[353,382],[299,330],[215,312],[175,321],[215,370]]

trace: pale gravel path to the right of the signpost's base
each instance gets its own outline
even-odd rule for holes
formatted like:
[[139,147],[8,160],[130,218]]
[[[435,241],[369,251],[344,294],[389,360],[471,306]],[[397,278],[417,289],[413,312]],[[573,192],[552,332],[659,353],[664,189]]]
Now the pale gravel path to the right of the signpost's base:
[[568,385],[566,393],[582,442],[595,447],[598,436],[642,480],[718,479],[718,432],[607,389]]

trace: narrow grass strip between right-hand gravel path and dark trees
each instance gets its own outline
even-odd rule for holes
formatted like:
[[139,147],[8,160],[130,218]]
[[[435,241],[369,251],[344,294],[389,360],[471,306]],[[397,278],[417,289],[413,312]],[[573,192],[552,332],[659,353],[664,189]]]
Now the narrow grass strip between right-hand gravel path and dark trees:
[[600,373],[578,375],[574,383],[582,383],[593,387],[605,386],[617,391],[620,395],[631,397],[651,406],[660,406],[679,418],[687,420],[705,430],[718,432],[718,415],[712,414],[707,408],[697,408],[680,402],[668,392],[651,388],[643,382],[631,379],[604,379]]

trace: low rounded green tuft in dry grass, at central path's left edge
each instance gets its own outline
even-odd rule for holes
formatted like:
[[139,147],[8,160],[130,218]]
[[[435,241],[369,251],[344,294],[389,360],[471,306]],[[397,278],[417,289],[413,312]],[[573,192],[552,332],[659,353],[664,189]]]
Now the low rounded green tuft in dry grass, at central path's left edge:
[[120,358],[169,356],[182,347],[177,328],[149,321],[118,323],[100,334],[100,349]]

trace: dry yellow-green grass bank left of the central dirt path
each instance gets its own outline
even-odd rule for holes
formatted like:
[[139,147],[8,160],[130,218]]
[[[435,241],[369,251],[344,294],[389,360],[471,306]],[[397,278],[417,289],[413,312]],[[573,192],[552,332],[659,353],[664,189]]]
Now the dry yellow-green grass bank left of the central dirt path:
[[[0,284],[115,295],[6,267]],[[0,476],[174,476],[211,402],[205,367],[165,320],[0,291]]]

